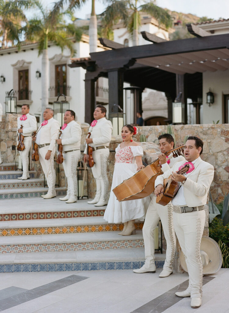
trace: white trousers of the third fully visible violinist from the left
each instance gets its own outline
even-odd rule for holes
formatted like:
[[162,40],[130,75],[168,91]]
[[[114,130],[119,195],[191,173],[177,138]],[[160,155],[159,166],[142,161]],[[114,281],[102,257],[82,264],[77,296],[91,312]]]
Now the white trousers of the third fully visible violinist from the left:
[[67,195],[76,198],[77,196],[77,174],[76,169],[80,160],[80,150],[63,153],[64,174],[68,182]]

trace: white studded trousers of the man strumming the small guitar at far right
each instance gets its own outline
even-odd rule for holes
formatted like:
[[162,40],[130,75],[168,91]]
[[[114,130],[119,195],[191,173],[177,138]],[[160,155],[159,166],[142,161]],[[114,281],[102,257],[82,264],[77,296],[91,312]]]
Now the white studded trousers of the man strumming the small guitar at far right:
[[189,275],[188,290],[191,293],[191,298],[201,298],[203,266],[200,244],[204,231],[205,210],[189,213],[173,212],[173,223],[178,241],[185,255]]

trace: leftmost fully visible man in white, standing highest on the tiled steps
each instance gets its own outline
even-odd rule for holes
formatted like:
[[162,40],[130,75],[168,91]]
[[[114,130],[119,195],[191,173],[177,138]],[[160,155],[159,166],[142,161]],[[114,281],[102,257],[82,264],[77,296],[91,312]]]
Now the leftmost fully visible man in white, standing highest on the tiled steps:
[[[18,133],[24,136],[23,143],[25,148],[23,151],[19,150],[19,154],[22,159],[22,167],[23,167],[23,174],[18,179],[27,180],[29,178],[28,172],[28,153],[31,149],[31,135],[33,131],[37,130],[37,120],[36,117],[29,114],[29,105],[23,104],[22,105],[22,116],[19,116],[18,119]],[[23,126],[21,128],[21,126]]]

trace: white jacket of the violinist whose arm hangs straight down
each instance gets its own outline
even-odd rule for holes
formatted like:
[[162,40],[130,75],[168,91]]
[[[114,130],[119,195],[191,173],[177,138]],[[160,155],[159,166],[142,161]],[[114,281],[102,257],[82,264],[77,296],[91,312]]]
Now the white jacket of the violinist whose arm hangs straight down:
[[54,118],[50,118],[48,120],[48,123],[44,126],[40,126],[38,128],[38,132],[40,132],[40,142],[36,142],[39,145],[43,145],[44,143],[50,143],[48,150],[53,151],[53,148],[56,143],[56,139],[58,139],[58,134],[60,130],[60,124],[57,120],[54,120]]

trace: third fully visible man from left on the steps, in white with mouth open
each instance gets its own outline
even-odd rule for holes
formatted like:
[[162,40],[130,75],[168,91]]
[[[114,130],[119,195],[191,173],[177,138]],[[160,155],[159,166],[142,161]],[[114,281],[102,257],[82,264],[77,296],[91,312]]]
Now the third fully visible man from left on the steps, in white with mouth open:
[[62,134],[57,139],[57,144],[63,146],[63,167],[67,177],[68,191],[64,198],[59,198],[66,203],[76,202],[77,178],[76,168],[80,160],[81,126],[75,121],[75,112],[67,110],[64,113]]

